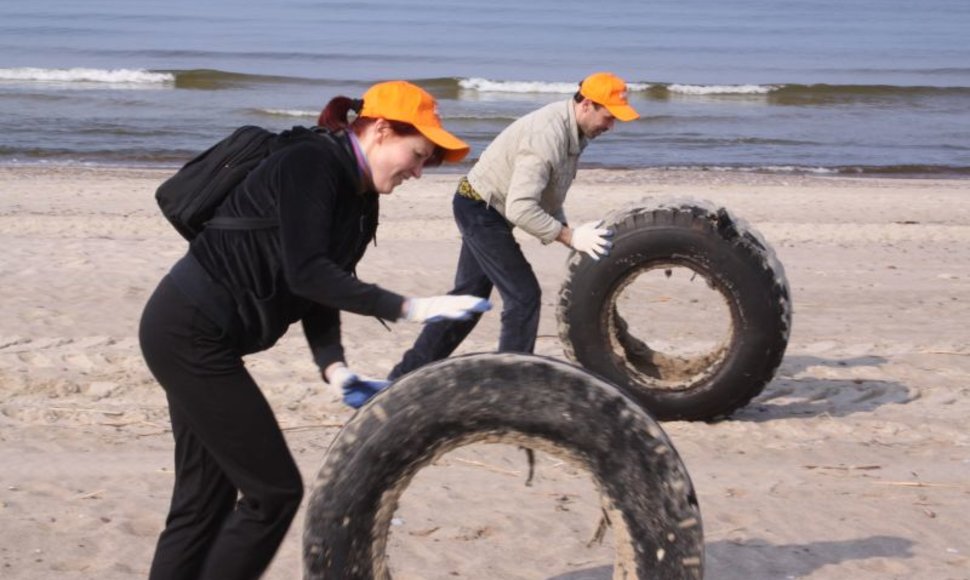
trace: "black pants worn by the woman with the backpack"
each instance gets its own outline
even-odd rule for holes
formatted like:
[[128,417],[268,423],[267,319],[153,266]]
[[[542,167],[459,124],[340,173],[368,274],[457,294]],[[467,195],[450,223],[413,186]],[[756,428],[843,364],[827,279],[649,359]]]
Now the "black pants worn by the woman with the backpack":
[[258,578],[303,497],[276,417],[236,341],[168,276],[145,306],[139,339],[175,437],[175,489],[150,578]]

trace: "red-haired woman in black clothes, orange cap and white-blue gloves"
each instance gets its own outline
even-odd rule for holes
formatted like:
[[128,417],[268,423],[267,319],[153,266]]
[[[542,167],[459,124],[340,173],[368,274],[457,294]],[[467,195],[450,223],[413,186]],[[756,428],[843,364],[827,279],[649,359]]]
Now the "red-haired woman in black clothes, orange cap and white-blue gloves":
[[[358,115],[348,123],[350,110]],[[320,121],[323,130],[286,134],[290,143],[217,211],[278,226],[206,228],[145,307],[142,352],[165,389],[175,438],[152,579],[256,578],[299,507],[300,473],[243,355],[300,320],[324,380],[359,406],[383,383],[347,368],[341,310],[429,322],[490,307],[471,296],[404,298],[354,276],[374,238],[378,194],[468,153],[441,127],[434,98],[403,81],[380,83],[362,102],[333,99]]]

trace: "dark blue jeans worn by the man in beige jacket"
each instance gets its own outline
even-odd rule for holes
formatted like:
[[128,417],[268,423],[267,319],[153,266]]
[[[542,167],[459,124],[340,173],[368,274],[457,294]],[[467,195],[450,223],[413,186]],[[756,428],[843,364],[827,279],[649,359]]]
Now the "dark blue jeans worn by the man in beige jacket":
[[[484,202],[460,195],[455,195],[452,209],[462,242],[455,287],[448,294],[488,298],[492,288],[498,288],[503,304],[499,352],[531,353],[539,332],[542,290],[512,235],[512,226]],[[404,353],[388,378],[394,380],[446,358],[475,328],[480,316],[425,325],[414,346]]]

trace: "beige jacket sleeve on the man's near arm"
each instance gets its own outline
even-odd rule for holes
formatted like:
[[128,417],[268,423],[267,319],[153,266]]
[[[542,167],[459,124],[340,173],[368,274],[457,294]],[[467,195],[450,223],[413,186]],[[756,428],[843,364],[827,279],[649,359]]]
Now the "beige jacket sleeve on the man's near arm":
[[544,243],[555,241],[562,230],[559,220],[539,205],[552,177],[556,149],[549,131],[534,131],[524,138],[515,153],[505,199],[505,217]]

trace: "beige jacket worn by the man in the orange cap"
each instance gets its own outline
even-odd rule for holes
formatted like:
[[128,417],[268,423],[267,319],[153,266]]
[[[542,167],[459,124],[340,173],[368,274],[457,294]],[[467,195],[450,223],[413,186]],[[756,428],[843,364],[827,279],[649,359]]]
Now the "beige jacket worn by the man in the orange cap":
[[566,223],[563,202],[587,139],[579,136],[573,100],[558,101],[506,127],[468,172],[490,206],[544,243]]

